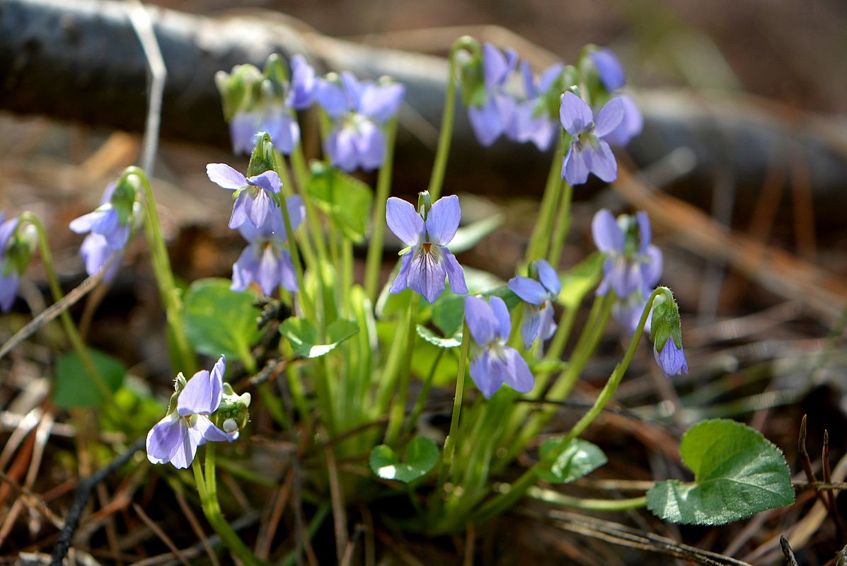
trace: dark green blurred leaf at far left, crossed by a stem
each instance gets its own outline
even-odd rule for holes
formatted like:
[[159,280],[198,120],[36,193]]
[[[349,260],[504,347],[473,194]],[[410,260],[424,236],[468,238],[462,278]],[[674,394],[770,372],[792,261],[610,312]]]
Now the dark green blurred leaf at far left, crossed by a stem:
[[[100,373],[109,391],[118,391],[124,384],[126,368],[118,358],[88,348],[91,363]],[[61,408],[95,407],[102,405],[103,398],[97,384],[86,372],[76,352],[65,352],[56,360],[56,388],[53,402]]]

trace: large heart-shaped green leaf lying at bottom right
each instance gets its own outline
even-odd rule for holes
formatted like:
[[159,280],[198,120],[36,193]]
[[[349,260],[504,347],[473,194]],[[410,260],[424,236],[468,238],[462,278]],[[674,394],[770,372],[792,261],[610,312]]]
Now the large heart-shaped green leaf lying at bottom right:
[[794,502],[783,452],[758,430],[732,420],[692,426],[679,444],[693,483],[667,480],[647,492],[647,508],[684,524],[724,524]]

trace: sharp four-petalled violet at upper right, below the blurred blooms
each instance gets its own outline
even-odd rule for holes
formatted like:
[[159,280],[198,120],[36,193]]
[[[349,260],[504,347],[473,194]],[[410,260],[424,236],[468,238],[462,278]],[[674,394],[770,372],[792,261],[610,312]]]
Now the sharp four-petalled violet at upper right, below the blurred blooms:
[[562,179],[571,186],[582,185],[590,173],[607,183],[617,179],[615,156],[603,138],[612,133],[623,119],[621,100],[612,98],[595,119],[589,105],[567,91],[562,95],[559,118],[567,133],[573,136],[571,147],[562,160]]

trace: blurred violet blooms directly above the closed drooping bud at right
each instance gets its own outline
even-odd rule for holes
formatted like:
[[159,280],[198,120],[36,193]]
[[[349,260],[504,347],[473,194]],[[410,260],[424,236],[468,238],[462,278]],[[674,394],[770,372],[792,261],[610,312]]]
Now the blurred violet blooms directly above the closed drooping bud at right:
[[606,260],[598,295],[615,292],[615,319],[630,332],[638,325],[647,297],[662,277],[662,250],[650,243],[645,212],[615,219],[603,208],[591,221],[594,242]]

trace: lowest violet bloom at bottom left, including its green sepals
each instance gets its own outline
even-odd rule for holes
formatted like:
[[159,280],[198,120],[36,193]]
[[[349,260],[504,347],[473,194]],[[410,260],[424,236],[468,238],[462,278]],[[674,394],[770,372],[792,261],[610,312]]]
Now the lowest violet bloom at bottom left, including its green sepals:
[[[224,384],[225,370],[226,360],[221,356],[211,372],[202,369],[187,381],[182,374],[177,376],[168,413],[147,433],[147,459],[151,463],[188,468],[197,447],[238,438],[250,394],[236,396],[229,384]],[[212,422],[215,417],[222,421],[224,430]]]

